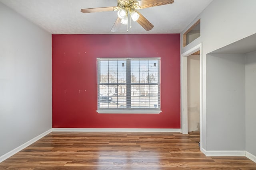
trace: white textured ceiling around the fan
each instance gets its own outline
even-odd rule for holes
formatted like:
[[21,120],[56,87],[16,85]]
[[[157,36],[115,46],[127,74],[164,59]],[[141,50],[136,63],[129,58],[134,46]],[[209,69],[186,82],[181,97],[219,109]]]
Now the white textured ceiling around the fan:
[[[84,14],[82,8],[116,6],[116,0],[0,0],[28,20],[52,34],[112,34],[117,12]],[[139,10],[154,28],[143,29],[137,22],[116,34],[181,33],[212,0],[174,0],[173,4]]]

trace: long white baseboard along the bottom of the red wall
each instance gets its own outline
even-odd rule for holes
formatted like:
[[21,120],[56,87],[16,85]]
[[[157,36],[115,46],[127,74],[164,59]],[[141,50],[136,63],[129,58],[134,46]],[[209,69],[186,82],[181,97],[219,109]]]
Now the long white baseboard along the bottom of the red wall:
[[53,132],[180,132],[180,129],[158,128],[52,128]]

